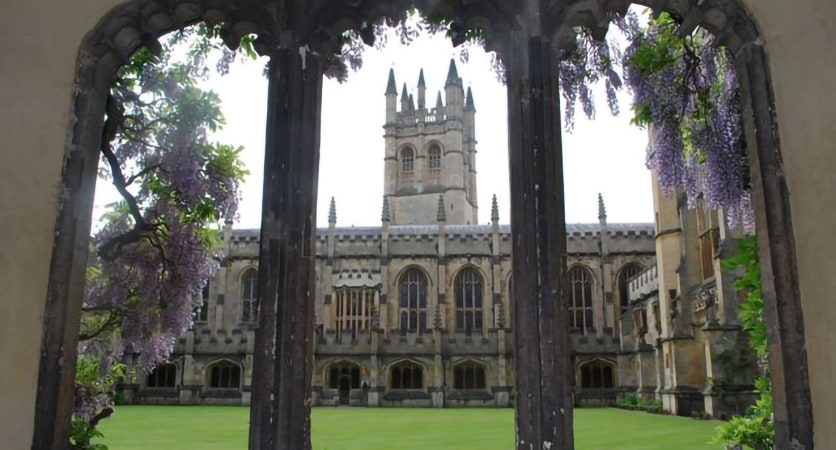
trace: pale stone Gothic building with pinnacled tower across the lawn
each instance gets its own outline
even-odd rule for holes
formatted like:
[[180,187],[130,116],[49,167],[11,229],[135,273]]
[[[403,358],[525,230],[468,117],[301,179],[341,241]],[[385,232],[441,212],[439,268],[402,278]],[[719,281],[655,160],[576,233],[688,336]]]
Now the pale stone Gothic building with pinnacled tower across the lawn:
[[[317,230],[314,405],[513,404],[511,230],[495,197],[491,223],[477,222],[473,93],[452,61],[447,102],[439,92],[427,108],[425,90],[422,71],[417,104],[404,84],[398,108],[390,71],[380,225],[339,227],[332,198]],[[727,404],[734,383],[719,375],[718,355],[742,348],[714,245],[727,230],[658,190],[655,207],[655,225],[608,224],[599,197],[598,223],[567,226],[576,403],[637,392],[669,412],[739,410],[746,399]],[[170,364],[134,380],[135,401],[250,402],[259,230],[228,225],[223,246],[194,328]]]

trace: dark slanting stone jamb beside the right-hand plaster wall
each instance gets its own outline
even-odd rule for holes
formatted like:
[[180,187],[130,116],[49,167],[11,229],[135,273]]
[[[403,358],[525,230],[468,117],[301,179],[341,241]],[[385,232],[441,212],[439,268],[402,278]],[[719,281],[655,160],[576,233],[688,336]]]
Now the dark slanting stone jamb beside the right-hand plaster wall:
[[[775,448],[812,449],[813,397],[807,369],[808,346],[804,340],[795,235],[763,46],[744,47],[736,55],[735,68],[743,92],[743,129],[752,167]],[[828,402],[827,397],[816,398]],[[827,422],[828,418],[819,419],[819,424]]]

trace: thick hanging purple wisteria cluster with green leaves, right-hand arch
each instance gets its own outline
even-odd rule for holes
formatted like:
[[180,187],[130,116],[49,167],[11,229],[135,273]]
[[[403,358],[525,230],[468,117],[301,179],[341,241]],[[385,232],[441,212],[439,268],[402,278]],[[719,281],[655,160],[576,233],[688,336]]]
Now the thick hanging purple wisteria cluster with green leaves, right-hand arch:
[[680,36],[667,14],[626,30],[633,123],[650,130],[647,162],[662,189],[682,189],[691,206],[703,199],[722,209],[731,226],[742,220],[750,227],[740,94],[727,52],[703,30]]

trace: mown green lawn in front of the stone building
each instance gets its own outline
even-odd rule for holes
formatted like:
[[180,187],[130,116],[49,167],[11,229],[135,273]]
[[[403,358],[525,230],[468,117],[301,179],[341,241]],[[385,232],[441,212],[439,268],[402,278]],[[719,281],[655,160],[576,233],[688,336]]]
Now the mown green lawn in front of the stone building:
[[[313,447],[349,449],[511,449],[512,409],[315,408]],[[249,409],[120,406],[101,425],[111,450],[245,449]],[[587,450],[697,450],[720,422],[609,408],[575,411],[575,444]]]

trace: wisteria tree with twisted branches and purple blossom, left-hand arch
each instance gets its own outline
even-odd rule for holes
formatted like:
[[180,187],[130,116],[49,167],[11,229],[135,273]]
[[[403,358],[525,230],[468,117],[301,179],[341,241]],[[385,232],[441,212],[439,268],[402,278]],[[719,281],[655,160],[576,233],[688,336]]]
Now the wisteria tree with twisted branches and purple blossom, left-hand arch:
[[[124,377],[123,352],[150,370],[165,360],[201,307],[215,274],[219,226],[235,217],[246,169],[240,147],[212,142],[223,124],[218,96],[200,87],[217,55],[224,72],[236,53],[218,27],[175,33],[164,47],[137,51],[108,96],[101,177],[121,200],[92,241],[79,336],[73,448],[90,443],[112,412]],[[252,53],[251,38],[242,49]]]

